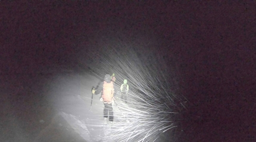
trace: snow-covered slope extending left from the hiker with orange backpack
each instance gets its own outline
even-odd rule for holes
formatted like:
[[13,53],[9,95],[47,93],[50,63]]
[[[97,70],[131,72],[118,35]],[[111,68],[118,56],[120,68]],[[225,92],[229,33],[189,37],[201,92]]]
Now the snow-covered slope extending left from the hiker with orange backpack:
[[104,125],[99,95],[91,89],[101,81],[88,73],[16,73],[3,75],[1,137],[3,141],[110,141],[111,131],[124,131],[129,115],[117,98],[114,125]]

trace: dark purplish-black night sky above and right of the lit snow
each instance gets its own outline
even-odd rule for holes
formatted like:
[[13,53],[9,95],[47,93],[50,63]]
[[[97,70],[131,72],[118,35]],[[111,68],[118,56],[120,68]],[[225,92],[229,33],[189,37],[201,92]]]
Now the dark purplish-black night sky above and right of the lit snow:
[[0,70],[13,76],[72,64],[101,36],[121,33],[126,42],[142,36],[154,40],[151,46],[179,69],[179,92],[189,104],[177,139],[255,141],[255,6],[253,1],[0,1]]

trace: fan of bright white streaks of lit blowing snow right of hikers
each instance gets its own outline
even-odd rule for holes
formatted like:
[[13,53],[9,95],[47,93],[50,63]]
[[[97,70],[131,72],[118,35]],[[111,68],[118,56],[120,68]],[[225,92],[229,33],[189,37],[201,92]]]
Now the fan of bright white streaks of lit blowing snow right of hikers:
[[[104,40],[100,42],[102,45],[107,43]],[[179,112],[174,111],[177,106],[174,101],[181,98],[169,87],[171,80],[168,72],[162,71],[168,65],[160,57],[155,57],[160,55],[143,49],[135,51],[135,48],[124,43],[106,44],[97,50],[91,48],[85,54],[93,59],[92,63],[86,64],[91,72],[99,78],[107,73],[115,73],[116,92],[124,79],[128,80],[129,85],[127,105],[117,99],[114,125],[104,140],[157,141],[162,133],[177,127],[173,118]],[[148,60],[142,60],[140,55],[148,57]]]

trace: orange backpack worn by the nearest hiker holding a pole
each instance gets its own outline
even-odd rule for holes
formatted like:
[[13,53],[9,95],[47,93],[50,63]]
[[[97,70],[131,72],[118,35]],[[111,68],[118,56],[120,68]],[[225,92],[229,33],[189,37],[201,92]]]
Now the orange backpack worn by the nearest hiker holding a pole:
[[107,83],[104,81],[103,83],[103,90],[102,90],[102,98],[104,102],[111,102],[114,94],[114,85],[111,81],[110,83]]

